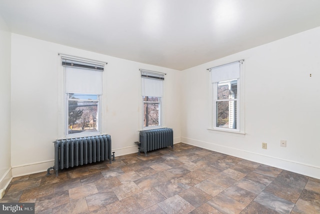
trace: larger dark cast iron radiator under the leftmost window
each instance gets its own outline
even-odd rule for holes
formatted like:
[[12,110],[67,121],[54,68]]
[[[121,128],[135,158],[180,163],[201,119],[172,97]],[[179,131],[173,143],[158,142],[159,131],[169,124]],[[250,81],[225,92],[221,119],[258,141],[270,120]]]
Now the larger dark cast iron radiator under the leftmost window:
[[111,137],[108,134],[56,140],[54,143],[54,166],[58,170],[109,159],[111,163]]

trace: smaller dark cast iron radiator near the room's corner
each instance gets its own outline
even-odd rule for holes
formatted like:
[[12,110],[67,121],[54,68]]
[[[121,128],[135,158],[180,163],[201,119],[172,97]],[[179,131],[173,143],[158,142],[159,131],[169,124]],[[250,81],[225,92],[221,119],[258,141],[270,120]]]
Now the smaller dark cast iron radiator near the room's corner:
[[138,142],[138,153],[171,146],[173,149],[173,130],[171,128],[160,128],[140,131],[140,142]]

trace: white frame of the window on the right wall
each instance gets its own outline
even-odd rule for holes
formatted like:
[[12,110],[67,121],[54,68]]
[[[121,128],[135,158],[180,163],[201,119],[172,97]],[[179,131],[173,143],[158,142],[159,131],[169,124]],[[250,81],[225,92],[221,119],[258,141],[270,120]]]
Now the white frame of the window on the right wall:
[[[213,82],[211,80],[211,74],[210,75],[210,82],[209,82],[209,121],[208,121],[208,130],[211,132],[220,132],[220,133],[231,133],[231,134],[241,134],[244,135],[245,131],[244,131],[244,87],[243,87],[243,79],[244,79],[244,74],[243,74],[243,61],[244,60],[239,60],[236,62],[239,62],[239,78],[237,78],[237,98],[236,99],[224,99],[224,100],[218,100],[217,99],[217,88],[218,88],[218,84],[219,82]],[[236,63],[233,62],[233,63]],[[228,64],[232,64],[232,63],[228,63]],[[228,65],[228,64],[224,64],[224,65]],[[224,66],[221,65],[221,66]],[[220,66],[216,66],[216,67],[220,67]],[[213,68],[216,68],[213,67]],[[208,69],[209,71],[213,68]],[[208,72],[210,73],[210,72]],[[227,79],[227,80],[223,80],[220,82],[228,82],[234,80],[234,78],[231,79]],[[236,101],[237,102],[237,128],[236,129],[232,129],[232,128],[224,128],[224,127],[216,127],[216,102],[220,102],[220,101]]]

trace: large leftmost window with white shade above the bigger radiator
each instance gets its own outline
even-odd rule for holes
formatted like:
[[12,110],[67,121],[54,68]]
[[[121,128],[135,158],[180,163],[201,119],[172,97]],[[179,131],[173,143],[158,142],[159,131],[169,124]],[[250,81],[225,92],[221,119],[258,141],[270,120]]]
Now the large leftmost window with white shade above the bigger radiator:
[[101,133],[102,71],[105,63],[61,57],[64,71],[64,136]]

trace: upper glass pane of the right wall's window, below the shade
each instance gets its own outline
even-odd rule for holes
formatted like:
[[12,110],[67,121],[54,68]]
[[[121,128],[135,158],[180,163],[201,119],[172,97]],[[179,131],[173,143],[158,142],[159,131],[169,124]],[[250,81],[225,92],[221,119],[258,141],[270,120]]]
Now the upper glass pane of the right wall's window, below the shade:
[[218,100],[236,99],[237,97],[237,80],[224,81],[218,83],[217,98]]

